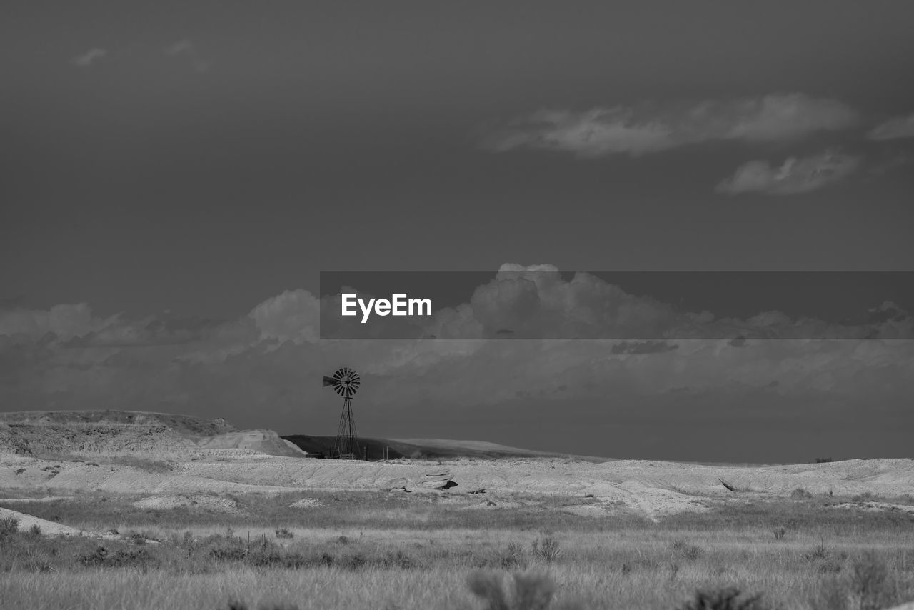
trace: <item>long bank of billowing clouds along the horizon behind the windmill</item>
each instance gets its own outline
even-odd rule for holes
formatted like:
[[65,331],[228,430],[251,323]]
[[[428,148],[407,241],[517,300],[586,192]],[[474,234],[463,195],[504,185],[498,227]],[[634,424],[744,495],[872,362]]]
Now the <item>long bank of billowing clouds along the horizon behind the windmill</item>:
[[[775,338],[792,337],[798,325],[809,333],[802,325],[814,323],[778,312],[747,320],[682,314],[642,299],[590,274],[565,279],[555,267],[505,265],[493,283],[480,286],[438,322],[444,329],[494,333],[507,323],[519,334],[537,324],[579,325],[572,327],[590,332],[587,325],[631,323],[639,333],[673,328],[677,337],[685,336],[681,328],[707,337],[720,325],[742,337]],[[451,429],[432,426],[468,420],[469,412],[488,421],[518,401],[518,409],[536,400],[557,401],[563,413],[576,404],[625,412],[625,405],[641,410],[651,397],[687,394],[700,397],[701,405],[744,405],[749,397],[765,410],[777,396],[788,397],[785,404],[802,412],[797,405],[837,404],[850,396],[870,408],[874,401],[914,392],[914,341],[892,340],[912,336],[910,316],[890,302],[865,312],[860,337],[877,337],[873,340],[748,342],[319,339],[318,302],[307,291],[287,291],[229,321],[104,318],[88,305],[0,313],[0,403],[16,410],[104,405],[188,412],[288,433],[333,433],[338,404],[321,387],[321,376],[352,366],[364,380],[359,417],[374,418],[360,419],[374,422],[367,430],[397,422],[404,434],[447,437]],[[521,324],[514,324],[515,315]],[[813,330],[828,336],[822,327]],[[730,347],[736,345],[741,348]],[[773,380],[777,386],[771,386]],[[673,391],[684,387],[690,391]],[[679,403],[670,403],[664,414],[681,411]],[[521,431],[542,429],[537,417],[544,412],[526,419],[511,413],[512,425]],[[528,420],[534,423],[525,428]]]

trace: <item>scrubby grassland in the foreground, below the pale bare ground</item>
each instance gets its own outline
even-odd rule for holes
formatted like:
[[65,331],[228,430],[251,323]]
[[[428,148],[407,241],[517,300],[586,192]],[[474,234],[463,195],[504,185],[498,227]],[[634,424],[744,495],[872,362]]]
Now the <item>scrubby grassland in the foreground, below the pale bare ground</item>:
[[[565,514],[560,497],[465,509],[436,495],[312,492],[238,496],[225,511],[136,508],[136,498],[83,493],[7,506],[124,539],[7,528],[0,599],[4,608],[87,610],[494,609],[503,582],[511,607],[509,574],[530,576],[519,589],[531,609],[744,600],[746,610],[875,610],[914,599],[914,516],[797,496],[654,522]],[[310,506],[290,508],[303,499]],[[728,587],[743,592],[737,601],[696,601],[696,591]],[[760,600],[745,601],[752,594]]]

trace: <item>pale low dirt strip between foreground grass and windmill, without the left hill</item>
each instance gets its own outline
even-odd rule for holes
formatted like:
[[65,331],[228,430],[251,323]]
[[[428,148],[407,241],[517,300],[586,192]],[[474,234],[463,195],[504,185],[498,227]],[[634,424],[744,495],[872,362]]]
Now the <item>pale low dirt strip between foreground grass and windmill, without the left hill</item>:
[[[432,476],[430,476],[432,475]],[[452,487],[436,489],[450,481]],[[728,489],[722,483],[733,487]],[[707,510],[730,498],[788,497],[797,489],[813,494],[882,498],[914,494],[914,460],[848,460],[794,466],[696,466],[674,462],[617,460],[601,464],[560,458],[399,459],[362,462],[251,455],[224,450],[218,456],[143,464],[99,464],[0,455],[0,489],[17,495],[65,495],[79,490],[149,495],[149,507],[194,506],[201,495],[277,493],[302,490],[389,490],[479,499],[537,495],[586,498],[567,509],[582,515],[624,508],[658,519]],[[472,493],[475,492],[475,493]],[[470,502],[468,506],[474,506]],[[873,503],[873,509],[891,509]],[[230,510],[231,507],[220,507]]]

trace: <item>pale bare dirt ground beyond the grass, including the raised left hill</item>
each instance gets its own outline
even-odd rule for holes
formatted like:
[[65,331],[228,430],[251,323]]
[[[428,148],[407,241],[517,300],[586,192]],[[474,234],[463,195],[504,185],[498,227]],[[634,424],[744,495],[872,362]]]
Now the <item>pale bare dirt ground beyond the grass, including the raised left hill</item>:
[[[448,444],[449,451],[457,443],[436,442]],[[8,490],[6,496],[101,491],[145,497],[138,508],[231,511],[230,505],[209,506],[213,500],[207,498],[350,489],[402,489],[462,498],[459,504],[467,509],[505,508],[525,495],[577,498],[558,501],[554,508],[582,516],[625,510],[655,520],[705,511],[731,499],[784,498],[794,493],[912,496],[914,460],[745,466],[544,455],[364,462],[307,457],[271,430],[239,431],[223,420],[143,412],[22,412],[0,417],[0,491]],[[910,504],[914,502],[867,506],[907,511]]]

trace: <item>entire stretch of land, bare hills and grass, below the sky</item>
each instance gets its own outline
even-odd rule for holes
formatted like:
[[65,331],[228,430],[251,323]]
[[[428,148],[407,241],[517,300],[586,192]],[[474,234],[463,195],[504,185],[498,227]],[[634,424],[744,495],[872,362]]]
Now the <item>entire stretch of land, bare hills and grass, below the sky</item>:
[[363,462],[167,414],[5,421],[3,610],[914,600],[909,459],[682,464],[491,444],[469,444],[468,457],[459,442],[413,440],[402,443],[424,458]]

